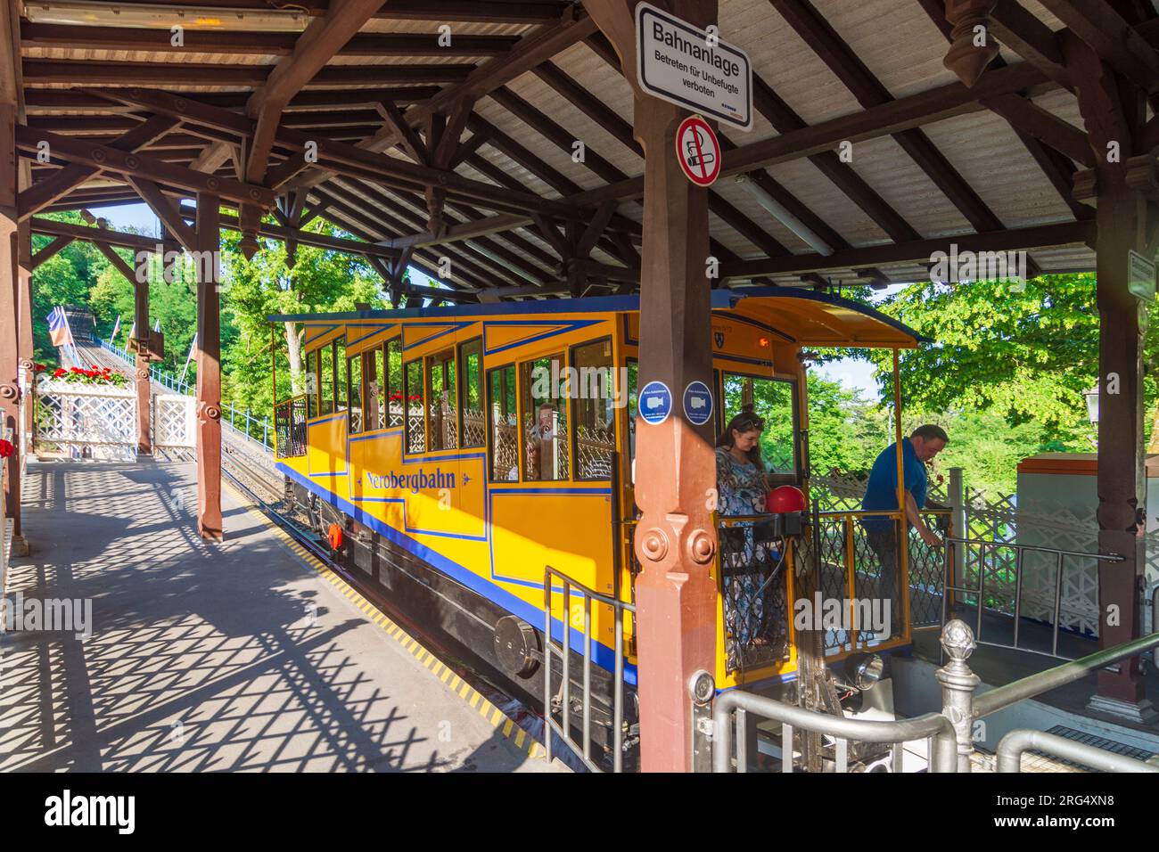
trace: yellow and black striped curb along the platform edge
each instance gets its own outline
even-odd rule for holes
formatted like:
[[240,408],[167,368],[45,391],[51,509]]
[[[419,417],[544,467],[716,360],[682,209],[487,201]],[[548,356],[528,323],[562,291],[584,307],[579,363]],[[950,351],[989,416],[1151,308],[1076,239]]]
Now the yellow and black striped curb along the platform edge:
[[253,500],[243,495],[224,479],[223,485],[226,486],[233,494],[234,498],[254,514],[265,525],[265,527],[274,533],[275,538],[285,545],[291,553],[318,571],[323,580],[329,581],[335,589],[350,599],[350,603],[362,610],[376,626],[386,631],[386,635],[401,645],[406,650],[410,651],[418,660],[418,662],[430,669],[431,673],[442,680],[449,690],[459,696],[459,698],[466,701],[467,705],[479,711],[479,715],[490,722],[491,727],[500,731],[504,737],[510,740],[515,744],[516,749],[533,758],[546,756],[547,752],[541,743],[516,724],[515,721],[503,713],[503,711],[483,698],[483,696],[475,691],[471,684],[455,675],[451,667],[427,650],[417,639],[408,634],[404,629],[402,629],[402,627],[387,618],[385,612],[364,598],[356,588],[345,581],[341,574],[336,573],[333,568],[322,562],[318,556],[302,547],[301,542],[294,540],[290,533],[270,520],[265,514],[254,504]]

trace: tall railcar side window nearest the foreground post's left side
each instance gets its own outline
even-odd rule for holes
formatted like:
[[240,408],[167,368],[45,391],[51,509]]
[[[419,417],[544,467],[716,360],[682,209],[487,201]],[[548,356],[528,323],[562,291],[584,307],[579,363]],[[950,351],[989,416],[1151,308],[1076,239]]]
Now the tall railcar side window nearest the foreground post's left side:
[[[611,479],[615,451],[615,384],[612,341],[571,349],[575,478]],[[625,388],[620,388],[624,393]]]

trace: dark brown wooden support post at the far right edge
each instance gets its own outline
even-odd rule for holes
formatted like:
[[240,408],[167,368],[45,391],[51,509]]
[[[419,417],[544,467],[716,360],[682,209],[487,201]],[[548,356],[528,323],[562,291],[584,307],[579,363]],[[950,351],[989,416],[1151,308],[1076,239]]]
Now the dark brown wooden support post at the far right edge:
[[[1093,174],[1080,175],[1076,187],[1093,185],[1098,195],[1099,549],[1125,558],[1099,563],[1099,647],[1110,648],[1143,634],[1143,337],[1147,314],[1129,284],[1131,253],[1142,254],[1144,262],[1153,261],[1154,254],[1146,250],[1149,202],[1129,185],[1127,163],[1146,117],[1146,101],[1142,89],[1073,34],[1063,37],[1062,46],[1095,155]],[[1153,217],[1154,210],[1150,212]],[[1099,671],[1099,691],[1089,707],[1136,722],[1157,719],[1144,697],[1138,657],[1123,661],[1117,671]]]

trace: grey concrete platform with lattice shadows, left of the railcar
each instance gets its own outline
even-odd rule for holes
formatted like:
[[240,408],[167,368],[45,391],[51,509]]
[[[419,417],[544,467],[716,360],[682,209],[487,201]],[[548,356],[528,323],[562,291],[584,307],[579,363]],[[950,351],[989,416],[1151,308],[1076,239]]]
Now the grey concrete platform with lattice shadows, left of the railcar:
[[561,769],[223,500],[210,544],[191,465],[29,464],[7,598],[89,599],[93,632],[0,634],[0,771]]

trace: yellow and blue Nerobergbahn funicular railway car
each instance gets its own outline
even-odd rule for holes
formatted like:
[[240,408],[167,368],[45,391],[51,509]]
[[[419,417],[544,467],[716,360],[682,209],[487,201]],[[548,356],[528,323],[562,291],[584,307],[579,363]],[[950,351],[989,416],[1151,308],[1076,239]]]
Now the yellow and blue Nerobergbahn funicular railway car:
[[[716,434],[737,413],[755,410],[766,424],[761,453],[771,483],[804,494],[808,350],[896,351],[926,342],[828,292],[753,287],[715,290],[712,299],[706,340]],[[469,664],[541,706],[545,567],[596,592],[633,599],[639,298],[268,319],[300,334],[301,372],[275,370],[276,456],[314,531],[333,536],[337,524],[335,558],[355,577],[424,632],[453,638]],[[277,349],[275,365],[289,363],[284,344]],[[717,690],[743,684],[783,694],[799,671],[789,602],[811,589],[837,598],[866,592],[872,577],[857,559],[862,512],[855,509],[851,501],[847,511],[804,516],[796,547],[755,536],[761,517],[719,518]],[[901,512],[889,517],[902,523]],[[909,588],[904,565],[902,576],[901,588]],[[559,642],[563,595],[559,581],[554,588],[551,624]],[[909,596],[896,597],[901,635],[879,641],[838,627],[824,631],[821,653],[836,661],[907,645]],[[570,672],[578,684],[582,604],[573,604],[569,622]],[[628,728],[636,682],[630,613],[622,622]],[[613,607],[596,605],[590,629],[591,712],[606,728],[613,718]],[[559,684],[559,657],[552,658]]]

